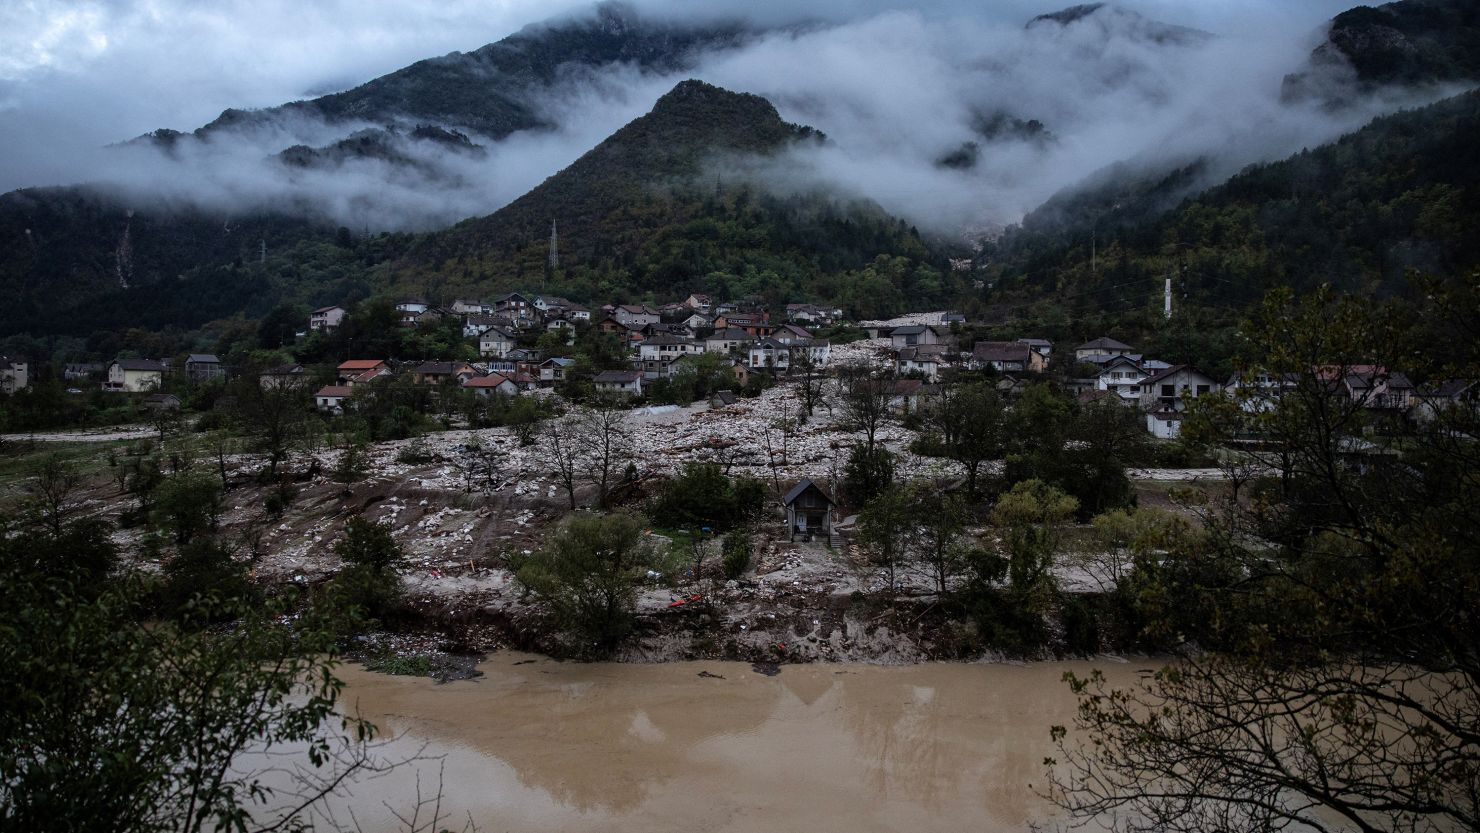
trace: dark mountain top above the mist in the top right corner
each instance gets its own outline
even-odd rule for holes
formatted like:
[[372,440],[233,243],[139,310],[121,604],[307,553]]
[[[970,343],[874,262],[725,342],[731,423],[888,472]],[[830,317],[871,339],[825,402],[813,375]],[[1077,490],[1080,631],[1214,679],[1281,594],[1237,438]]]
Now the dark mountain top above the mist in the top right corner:
[[1332,18],[1307,67],[1285,78],[1288,99],[1339,105],[1387,86],[1480,81],[1480,3],[1402,0]]

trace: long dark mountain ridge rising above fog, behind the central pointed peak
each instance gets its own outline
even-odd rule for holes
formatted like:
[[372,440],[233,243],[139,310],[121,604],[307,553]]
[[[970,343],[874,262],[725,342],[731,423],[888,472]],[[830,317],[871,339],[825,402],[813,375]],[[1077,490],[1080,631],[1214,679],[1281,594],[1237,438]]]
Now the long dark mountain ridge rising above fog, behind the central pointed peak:
[[[593,15],[542,22],[472,52],[417,61],[354,89],[265,109],[226,109],[194,132],[209,138],[265,123],[311,118],[382,127],[435,124],[500,139],[555,127],[540,111],[540,92],[579,72],[616,64],[651,72],[687,70],[699,52],[741,44],[758,30],[740,22],[653,21],[620,1]],[[175,132],[149,135],[176,141]]]

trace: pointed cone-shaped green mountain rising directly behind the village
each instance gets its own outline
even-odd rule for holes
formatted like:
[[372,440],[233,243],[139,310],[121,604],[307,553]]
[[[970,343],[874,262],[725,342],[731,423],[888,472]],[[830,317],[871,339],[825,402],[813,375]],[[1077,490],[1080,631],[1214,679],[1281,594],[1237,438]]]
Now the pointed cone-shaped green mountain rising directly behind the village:
[[[392,268],[403,281],[420,281],[407,286],[432,293],[554,281],[586,299],[613,290],[672,296],[783,287],[818,296],[835,291],[821,284],[879,254],[929,260],[919,235],[872,203],[814,191],[778,197],[753,179],[787,151],[821,142],[821,133],[787,124],[761,96],[682,81],[524,197],[428,235]],[[558,272],[546,268],[552,225]]]

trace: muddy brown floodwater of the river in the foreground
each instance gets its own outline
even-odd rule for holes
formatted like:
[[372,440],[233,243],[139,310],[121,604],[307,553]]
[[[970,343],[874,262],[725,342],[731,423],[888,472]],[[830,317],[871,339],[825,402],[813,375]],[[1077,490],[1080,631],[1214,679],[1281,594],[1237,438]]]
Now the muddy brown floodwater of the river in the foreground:
[[[500,652],[437,685],[345,667],[346,701],[428,756],[336,803],[366,833],[443,792],[447,827],[478,830],[1024,830],[1064,672],[1129,684],[1151,661],[781,666],[579,664]],[[715,676],[706,676],[715,675]],[[722,678],[722,679],[718,679]],[[425,749],[423,749],[425,747]],[[419,784],[417,784],[419,780]],[[425,818],[425,815],[423,815]]]

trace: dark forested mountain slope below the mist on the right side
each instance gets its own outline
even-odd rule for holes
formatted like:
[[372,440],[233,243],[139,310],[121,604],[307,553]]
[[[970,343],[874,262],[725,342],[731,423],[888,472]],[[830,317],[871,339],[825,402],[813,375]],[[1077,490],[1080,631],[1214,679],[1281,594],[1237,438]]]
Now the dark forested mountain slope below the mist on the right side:
[[1014,229],[990,257],[1003,290],[1243,305],[1267,289],[1396,293],[1416,269],[1480,266],[1480,92],[1399,112],[1224,185],[1148,222],[1064,244]]

